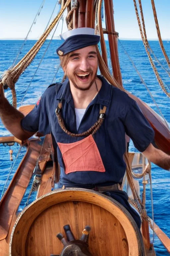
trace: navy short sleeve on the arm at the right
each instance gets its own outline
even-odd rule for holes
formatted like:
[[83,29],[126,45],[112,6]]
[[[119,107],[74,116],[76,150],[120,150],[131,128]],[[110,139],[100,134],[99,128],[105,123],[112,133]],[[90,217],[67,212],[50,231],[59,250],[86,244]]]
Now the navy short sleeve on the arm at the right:
[[128,109],[125,129],[135,148],[140,152],[143,152],[154,141],[154,131],[135,101]]

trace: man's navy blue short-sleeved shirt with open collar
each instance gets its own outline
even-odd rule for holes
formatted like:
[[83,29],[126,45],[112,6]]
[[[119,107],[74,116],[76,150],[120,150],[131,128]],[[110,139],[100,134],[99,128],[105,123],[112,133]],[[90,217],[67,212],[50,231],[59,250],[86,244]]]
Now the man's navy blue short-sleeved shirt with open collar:
[[61,129],[55,114],[59,100],[63,100],[62,118],[65,127],[72,133],[87,131],[98,120],[100,108],[107,107],[106,118],[93,135],[106,171],[76,171],[65,174],[62,154],[59,147],[54,145],[61,168],[60,181],[65,185],[105,186],[121,183],[126,170],[123,160],[126,150],[125,133],[141,152],[154,139],[154,132],[137,103],[127,93],[110,85],[102,76],[98,77],[102,81],[102,87],[87,107],[78,130],[76,129],[74,102],[68,80],[63,84],[49,86],[43,93],[39,105],[36,105],[21,122],[25,130],[39,131],[44,135],[51,132],[57,143],[72,143],[85,137],[71,137]]

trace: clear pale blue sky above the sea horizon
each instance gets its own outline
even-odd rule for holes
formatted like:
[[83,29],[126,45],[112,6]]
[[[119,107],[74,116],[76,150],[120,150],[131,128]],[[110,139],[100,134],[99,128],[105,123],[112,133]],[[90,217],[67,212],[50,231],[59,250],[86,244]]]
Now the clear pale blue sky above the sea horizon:
[[[0,38],[25,38],[42,0],[1,0]],[[120,38],[140,38],[133,0],[114,0],[115,27]],[[136,0],[137,2],[137,0]],[[56,0],[46,0],[33,26],[30,38],[41,36],[55,6]],[[170,0],[155,0],[161,36],[170,39]],[[157,33],[151,0],[142,0],[147,37],[156,39]],[[55,10],[55,15],[58,8]],[[54,15],[53,15],[54,18]],[[61,25],[55,36],[60,34]],[[64,30],[66,27],[64,26]]]

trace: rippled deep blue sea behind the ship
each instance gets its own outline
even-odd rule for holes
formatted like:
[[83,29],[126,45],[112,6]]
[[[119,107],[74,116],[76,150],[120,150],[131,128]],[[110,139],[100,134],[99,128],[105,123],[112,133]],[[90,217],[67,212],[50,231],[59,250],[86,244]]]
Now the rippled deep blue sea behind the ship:
[[[18,53],[18,60],[20,60],[28,52],[28,50],[35,44],[35,42],[36,41],[28,40],[21,50],[23,41],[1,40],[0,76],[5,70],[7,70],[10,66],[13,65],[14,60]],[[158,62],[154,59],[154,64],[157,67],[158,72],[161,75],[167,90],[170,92],[170,78],[167,72],[165,71],[168,70],[168,66],[161,52],[159,42],[150,41],[149,43],[159,61]],[[168,56],[170,57],[170,42],[164,41],[163,43],[165,50]],[[18,107],[21,105],[35,104],[49,84],[56,81],[59,82],[62,80],[62,69],[59,68],[57,72],[57,69],[59,67],[59,58],[56,55],[56,48],[59,44],[60,42],[58,40],[52,40],[51,42],[50,40],[47,40],[42,46],[42,49],[40,50],[38,55],[35,57],[34,61],[21,75],[20,79],[16,83]],[[152,70],[152,67],[150,66],[142,41],[119,41],[118,47],[120,66],[125,89],[139,97],[141,100],[146,102],[152,109],[154,109],[158,114],[160,114],[159,110],[155,106],[155,103],[151,99],[148,90],[142,84],[138,74],[136,73],[132,65],[132,62],[129,60],[129,55],[137,70],[143,77],[143,80],[145,81],[148,89],[150,90],[152,96],[154,97],[154,100],[156,101],[163,116],[165,117],[167,122],[170,123],[170,99],[162,91],[155,78],[154,72]],[[127,51],[128,55],[125,53],[125,50]],[[43,55],[44,58],[41,64],[39,65]],[[161,63],[165,70],[162,69],[159,63]],[[9,89],[5,92],[5,95],[8,98],[8,100],[12,102],[11,91]],[[10,133],[4,128],[3,124],[0,121],[0,136],[8,135],[10,135]],[[13,167],[13,169],[9,176],[9,180],[6,184],[6,188],[8,187],[21,159],[23,158],[26,152],[26,148],[22,147],[20,154],[17,157],[17,153],[20,149],[20,146],[11,146],[11,149],[14,152],[14,160],[11,163],[9,158],[9,149],[9,146],[5,147],[4,145],[0,144],[0,198],[2,196],[2,193],[5,191],[4,185],[9,175],[10,167]],[[136,149],[134,148],[132,143],[130,143],[130,151],[136,152]],[[31,186],[31,183],[29,186]],[[163,170],[155,166],[154,164],[152,164],[152,190],[154,221],[166,233],[166,235],[170,237],[170,173],[166,170]],[[33,195],[33,197],[34,196],[35,195]],[[19,210],[21,210],[21,208],[24,207],[25,202],[27,201],[27,197],[28,192],[25,194]],[[33,200],[33,197],[30,199],[30,201]],[[146,209],[148,215],[152,218],[150,184],[147,185]],[[156,255],[158,256],[169,255],[156,235],[154,236],[154,248],[156,250]]]

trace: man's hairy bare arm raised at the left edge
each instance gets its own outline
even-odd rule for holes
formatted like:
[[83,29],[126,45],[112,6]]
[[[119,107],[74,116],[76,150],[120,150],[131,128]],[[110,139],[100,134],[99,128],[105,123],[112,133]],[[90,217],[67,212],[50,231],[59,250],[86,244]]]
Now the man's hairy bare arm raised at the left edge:
[[2,82],[0,82],[0,118],[4,126],[20,140],[28,139],[35,133],[25,131],[22,128],[21,120],[24,118],[24,115],[12,107],[5,98]]

